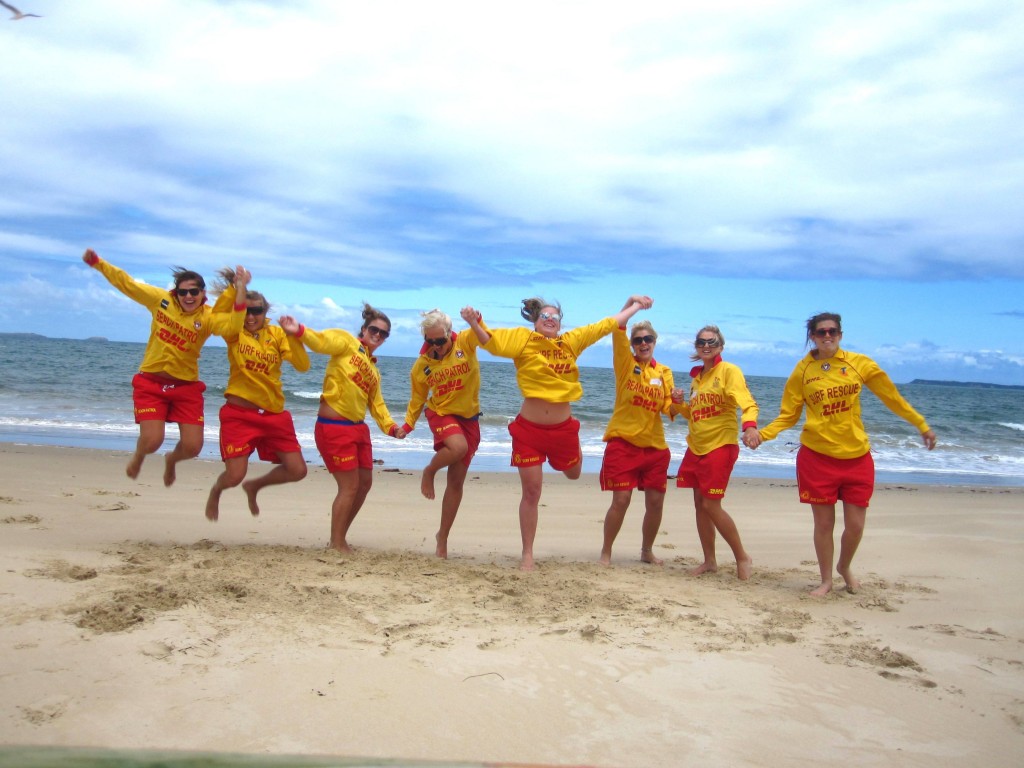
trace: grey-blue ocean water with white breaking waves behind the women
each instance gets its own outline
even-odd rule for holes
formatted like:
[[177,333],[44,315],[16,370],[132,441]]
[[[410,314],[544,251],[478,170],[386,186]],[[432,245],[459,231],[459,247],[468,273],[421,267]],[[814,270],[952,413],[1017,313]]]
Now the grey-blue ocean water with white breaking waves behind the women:
[[[142,358],[143,345],[129,342],[47,339],[0,335],[0,441],[57,444],[131,451],[137,427],[132,418],[131,377]],[[307,461],[318,463],[313,423],[327,358],[310,354],[312,369],[296,373],[285,366],[284,386],[299,442]],[[512,471],[509,466],[508,422],[521,398],[515,372],[504,361],[490,361],[481,352],[481,444],[473,468]],[[796,362],[796,361],[795,361]],[[381,356],[384,397],[399,423],[409,398],[411,357]],[[200,360],[207,384],[206,445],[203,457],[218,459],[217,412],[227,381],[223,346],[209,344]],[[754,376],[748,384],[761,407],[762,424],[778,413],[785,380]],[[686,381],[686,371],[676,371]],[[584,397],[573,404],[580,420],[584,470],[600,469],[601,435],[614,397],[610,369],[583,369]],[[906,384],[900,390],[925,415],[938,433],[939,445],[925,451],[916,430],[893,416],[872,394],[862,396],[863,418],[871,437],[881,482],[929,484],[1024,485],[1024,397],[1021,390]],[[734,475],[793,479],[799,442],[797,428],[783,432],[758,451],[740,451]],[[173,446],[173,425],[164,450]],[[426,420],[404,440],[381,434],[371,424],[374,456],[384,466],[420,469],[432,453]],[[666,424],[673,453],[673,471],[686,450],[684,422]]]

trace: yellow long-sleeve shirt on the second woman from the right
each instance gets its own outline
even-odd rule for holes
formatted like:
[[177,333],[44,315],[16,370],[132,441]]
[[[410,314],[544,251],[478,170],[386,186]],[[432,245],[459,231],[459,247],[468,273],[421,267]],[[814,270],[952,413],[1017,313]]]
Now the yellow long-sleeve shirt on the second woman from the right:
[[710,371],[697,366],[690,376],[689,400],[679,409],[688,423],[687,446],[705,456],[722,445],[738,444],[736,410],[743,429],[758,423],[758,403],[746,387],[743,372],[718,357]]

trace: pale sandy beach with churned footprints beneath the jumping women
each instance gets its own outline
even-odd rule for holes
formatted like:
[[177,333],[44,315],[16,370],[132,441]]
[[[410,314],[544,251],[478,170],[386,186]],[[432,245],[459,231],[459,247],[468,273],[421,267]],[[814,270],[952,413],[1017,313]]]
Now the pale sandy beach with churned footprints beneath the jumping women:
[[[221,466],[0,445],[0,742],[555,765],[1016,766],[1024,753],[1024,488],[880,485],[856,595],[817,584],[786,480],[737,479],[754,557],[699,547],[670,487],[639,562],[634,498],[612,567],[608,496],[549,474],[538,570],[518,478],[470,471],[450,559],[417,472],[376,471],[349,541],[334,483],[224,494]],[[251,472],[267,465],[254,464]]]

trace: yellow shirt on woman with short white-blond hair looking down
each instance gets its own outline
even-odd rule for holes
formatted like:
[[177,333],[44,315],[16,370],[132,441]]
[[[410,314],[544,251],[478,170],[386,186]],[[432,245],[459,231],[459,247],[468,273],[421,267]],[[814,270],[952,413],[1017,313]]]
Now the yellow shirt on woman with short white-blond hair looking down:
[[441,359],[420,354],[409,372],[411,395],[404,430],[416,426],[424,404],[441,416],[471,419],[480,413],[480,364],[476,334],[452,334],[452,348]]

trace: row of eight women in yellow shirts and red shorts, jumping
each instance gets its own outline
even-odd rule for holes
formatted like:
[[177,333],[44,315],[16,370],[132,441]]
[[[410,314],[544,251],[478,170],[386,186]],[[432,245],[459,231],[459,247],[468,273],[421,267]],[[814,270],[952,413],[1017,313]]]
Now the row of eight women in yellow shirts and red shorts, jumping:
[[[807,322],[809,352],[786,381],[778,417],[759,428],[758,404],[742,372],[722,358],[725,338],[716,326],[705,326],[694,338],[690,355],[689,391],[677,387],[672,370],[657,362],[657,333],[634,315],[653,305],[648,296],[630,296],[615,314],[562,332],[562,309],[541,298],[522,301],[521,315],[529,327],[492,329],[472,306],[461,310],[469,330],[456,333],[452,318],[434,309],[423,313],[423,346],[410,372],[411,396],[404,423],[391,418],[381,392],[374,356],[391,333],[387,315],[369,304],[353,335],[342,329],[314,331],[295,317],[268,322],[270,304],[248,290],[251,275],[242,266],[223,269],[214,287],[213,305],[206,283],[193,270],[176,267],[173,288],[156,288],[134,281],[127,272],[87,250],[83,260],[99,270],[129,298],[150,309],[152,325],[139,373],[132,380],[136,447],[128,461],[129,477],[138,476],[142,462],[164,441],[165,424],[177,423],[179,440],[165,456],[164,483],[175,480],[178,462],[199,455],[203,446],[203,392],[199,356],[211,335],[227,344],[230,367],[224,404],[220,410],[220,452],[224,471],[206,504],[206,516],[216,520],[221,494],[242,485],[249,510],[259,514],[257,496],[267,485],[301,480],[306,463],[291,414],[285,410],[281,370],[288,361],[298,371],[309,369],[308,350],[329,355],[314,437],[337,493],[331,508],[330,547],[351,552],[348,530],[373,484],[373,451],[367,412],[385,434],[402,439],[426,417],[434,454],[424,468],[421,492],[435,498],[435,477],[445,470],[440,526],[435,554],[447,557],[449,535],[462,502],[464,482],[480,442],[479,348],[511,358],[523,400],[509,424],[512,466],[519,473],[520,567],[535,568],[534,542],[544,481],[544,465],[569,479],[580,477],[583,454],[580,422],[571,403],[583,396],[578,359],[587,347],[612,337],[615,404],[604,433],[600,471],[603,490],[611,493],[604,520],[600,562],[611,562],[614,540],[623,525],[633,492],[644,494],[641,560],[662,564],[653,552],[662,524],[671,452],[663,418],[687,423],[687,449],[676,473],[678,487],[692,488],[697,536],[703,559],[690,572],[718,568],[716,539],[721,535],[732,550],[736,575],[751,577],[753,560],[743,548],[732,517],[722,506],[733,466],[743,444],[756,450],[763,441],[796,426],[806,410],[797,455],[800,501],[814,516],[814,547],[821,584],[814,595],[833,589],[833,569],[855,592],[859,581],[851,569],[863,535],[867,506],[874,487],[874,465],[860,418],[860,393],[870,389],[893,413],[916,427],[932,450],[935,432],[902,397],[889,376],[870,357],[841,347],[842,318],[822,312]],[[737,429],[737,412],[739,428]],[[246,479],[253,453],[274,466],[266,474]],[[842,501],[844,531],[835,561],[834,529]]]

